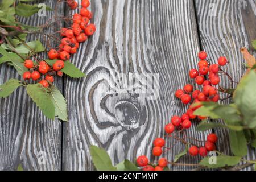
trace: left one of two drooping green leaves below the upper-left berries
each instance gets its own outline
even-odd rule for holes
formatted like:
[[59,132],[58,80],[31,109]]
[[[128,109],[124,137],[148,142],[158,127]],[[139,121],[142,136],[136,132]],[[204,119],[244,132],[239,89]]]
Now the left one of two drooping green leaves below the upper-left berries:
[[43,88],[41,84],[27,85],[27,94],[43,111],[46,117],[50,119],[55,118],[55,108],[46,88]]

